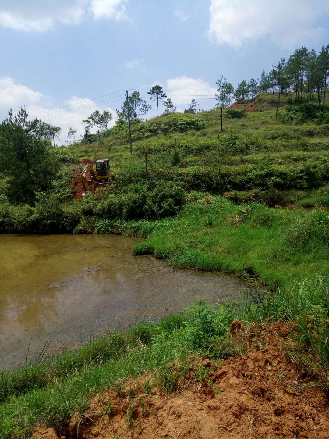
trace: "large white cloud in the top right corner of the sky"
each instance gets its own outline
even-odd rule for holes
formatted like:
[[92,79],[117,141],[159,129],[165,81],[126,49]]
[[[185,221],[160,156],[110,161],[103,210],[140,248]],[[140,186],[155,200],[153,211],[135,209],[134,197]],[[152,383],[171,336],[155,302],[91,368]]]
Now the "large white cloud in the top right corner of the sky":
[[211,0],[210,36],[218,43],[241,47],[264,36],[294,48],[316,42],[322,35],[317,20],[329,13],[327,0]]

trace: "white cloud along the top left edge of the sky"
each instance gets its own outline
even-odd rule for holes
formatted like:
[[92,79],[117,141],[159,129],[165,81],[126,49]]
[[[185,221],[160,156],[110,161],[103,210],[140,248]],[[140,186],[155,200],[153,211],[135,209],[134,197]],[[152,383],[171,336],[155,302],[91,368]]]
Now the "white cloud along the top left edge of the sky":
[[57,23],[77,24],[88,12],[95,20],[127,18],[128,0],[26,0],[7,1],[0,5],[0,26],[25,32],[45,32]]

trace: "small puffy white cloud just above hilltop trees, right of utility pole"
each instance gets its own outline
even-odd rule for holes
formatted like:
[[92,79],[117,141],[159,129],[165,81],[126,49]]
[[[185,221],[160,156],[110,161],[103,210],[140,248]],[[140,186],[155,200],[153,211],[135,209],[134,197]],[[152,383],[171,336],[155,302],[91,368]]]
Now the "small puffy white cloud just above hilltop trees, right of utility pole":
[[[175,104],[188,104],[194,98],[197,102],[207,105],[212,103],[210,97],[215,96],[216,89],[203,79],[194,79],[189,76],[177,76],[176,78],[167,79],[166,81],[167,96]],[[204,98],[204,99],[203,99]]]

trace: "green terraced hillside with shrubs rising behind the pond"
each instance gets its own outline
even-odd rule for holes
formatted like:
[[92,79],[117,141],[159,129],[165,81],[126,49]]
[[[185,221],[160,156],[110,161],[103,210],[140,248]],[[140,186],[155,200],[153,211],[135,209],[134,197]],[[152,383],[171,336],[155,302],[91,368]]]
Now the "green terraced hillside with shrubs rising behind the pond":
[[[152,154],[150,180],[178,180],[187,191],[223,192],[234,202],[253,200],[271,206],[321,197],[328,182],[329,124],[313,120],[282,123],[284,100],[276,121],[275,103],[272,94],[260,94],[251,103],[254,112],[231,110],[231,117],[225,112],[223,132],[218,111],[161,116],[132,126],[132,158],[125,128],[113,129],[100,144],[70,150],[79,160],[109,157],[114,173],[120,169],[125,175],[137,173],[132,183],[143,178],[140,151],[147,148]],[[228,148],[221,170],[222,188],[212,160],[218,136],[224,136]]]

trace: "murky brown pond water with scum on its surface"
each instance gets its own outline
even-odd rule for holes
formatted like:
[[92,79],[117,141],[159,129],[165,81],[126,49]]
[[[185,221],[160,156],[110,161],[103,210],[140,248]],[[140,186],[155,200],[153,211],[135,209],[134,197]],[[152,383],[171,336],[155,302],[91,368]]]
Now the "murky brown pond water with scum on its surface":
[[[240,300],[233,277],[172,270],[133,256],[141,241],[114,235],[0,235],[0,370],[72,349],[113,328],[182,311],[197,296]],[[60,332],[59,332],[60,331]]]

